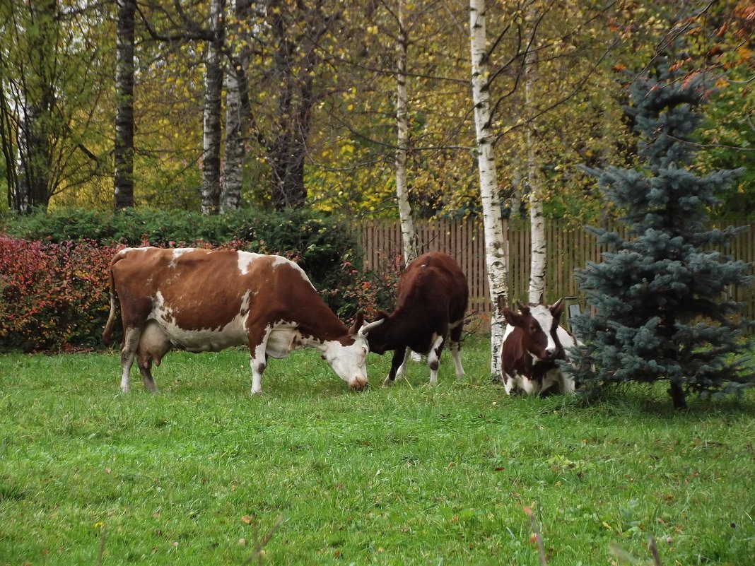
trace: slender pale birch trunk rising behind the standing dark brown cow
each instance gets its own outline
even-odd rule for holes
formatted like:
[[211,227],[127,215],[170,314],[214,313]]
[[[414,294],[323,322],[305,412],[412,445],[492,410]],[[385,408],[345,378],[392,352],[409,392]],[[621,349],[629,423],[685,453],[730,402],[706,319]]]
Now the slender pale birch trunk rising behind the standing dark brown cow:
[[396,125],[398,142],[396,148],[396,197],[399,201],[401,238],[404,245],[404,262],[408,264],[418,257],[418,238],[414,231],[414,218],[409,204],[408,183],[406,182],[406,154],[408,151],[408,95],[406,92],[406,57],[408,37],[405,26],[404,0],[399,0],[398,63],[396,65]]

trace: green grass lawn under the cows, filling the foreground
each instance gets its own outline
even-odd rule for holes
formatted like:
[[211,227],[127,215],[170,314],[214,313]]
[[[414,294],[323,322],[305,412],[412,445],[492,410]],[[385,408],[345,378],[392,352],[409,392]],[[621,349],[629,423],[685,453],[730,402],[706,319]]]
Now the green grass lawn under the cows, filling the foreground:
[[[467,376],[347,390],[317,352],[171,353],[149,395],[115,353],[0,357],[0,564],[755,564],[755,398],[629,389],[507,398],[470,337]],[[240,544],[240,540],[245,544]],[[104,552],[100,555],[100,544]],[[255,559],[256,563],[257,560]],[[615,563],[615,562],[614,562]]]

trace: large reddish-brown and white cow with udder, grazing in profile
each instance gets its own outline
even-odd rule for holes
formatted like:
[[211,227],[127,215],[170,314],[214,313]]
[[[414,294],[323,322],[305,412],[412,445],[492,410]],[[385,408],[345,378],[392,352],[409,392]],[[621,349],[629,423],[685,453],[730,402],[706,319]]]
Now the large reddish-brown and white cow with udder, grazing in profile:
[[350,389],[367,385],[368,344],[362,314],[347,329],[307,274],[285,257],[233,250],[126,248],[110,263],[110,342],[121,305],[121,389],[138,358],[144,386],[156,391],[151,368],[172,347],[218,352],[248,344],[251,392],[262,392],[267,357],[312,346]]

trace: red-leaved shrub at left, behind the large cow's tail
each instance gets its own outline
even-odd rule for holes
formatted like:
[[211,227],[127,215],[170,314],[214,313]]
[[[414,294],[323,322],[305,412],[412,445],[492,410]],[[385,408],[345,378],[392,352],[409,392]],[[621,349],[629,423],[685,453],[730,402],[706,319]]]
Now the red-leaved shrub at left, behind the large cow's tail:
[[29,352],[91,348],[110,308],[108,267],[122,246],[0,235],[0,343]]

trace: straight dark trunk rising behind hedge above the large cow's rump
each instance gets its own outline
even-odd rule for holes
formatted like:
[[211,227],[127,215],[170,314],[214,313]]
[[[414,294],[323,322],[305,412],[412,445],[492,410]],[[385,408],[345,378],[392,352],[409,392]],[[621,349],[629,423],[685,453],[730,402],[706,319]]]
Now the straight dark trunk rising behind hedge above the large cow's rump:
[[116,211],[134,206],[134,26],[136,0],[118,0],[116,144],[113,202]]

